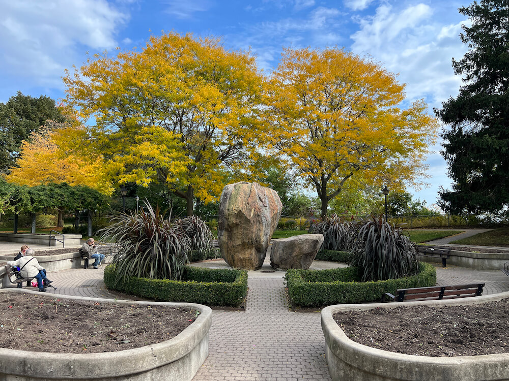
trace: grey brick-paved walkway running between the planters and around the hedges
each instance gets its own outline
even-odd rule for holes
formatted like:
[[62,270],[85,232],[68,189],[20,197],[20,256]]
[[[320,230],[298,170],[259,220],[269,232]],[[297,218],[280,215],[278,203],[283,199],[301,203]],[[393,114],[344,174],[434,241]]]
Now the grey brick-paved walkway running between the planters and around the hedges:
[[[193,380],[330,380],[320,313],[288,310],[283,273],[249,273],[246,311],[213,311],[209,356]],[[101,269],[51,272],[58,290],[48,294],[115,298],[102,275]],[[471,282],[485,282],[484,295],[509,291],[501,271],[437,264],[438,284]]]

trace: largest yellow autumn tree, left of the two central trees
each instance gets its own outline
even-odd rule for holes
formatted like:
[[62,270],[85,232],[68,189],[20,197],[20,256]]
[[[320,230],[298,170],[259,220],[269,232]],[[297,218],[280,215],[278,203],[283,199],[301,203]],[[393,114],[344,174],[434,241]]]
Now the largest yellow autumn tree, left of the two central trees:
[[247,163],[264,78],[248,52],[169,33],[141,51],[95,55],[64,78],[67,103],[94,118],[94,146],[119,183],[166,184],[187,203],[217,198]]

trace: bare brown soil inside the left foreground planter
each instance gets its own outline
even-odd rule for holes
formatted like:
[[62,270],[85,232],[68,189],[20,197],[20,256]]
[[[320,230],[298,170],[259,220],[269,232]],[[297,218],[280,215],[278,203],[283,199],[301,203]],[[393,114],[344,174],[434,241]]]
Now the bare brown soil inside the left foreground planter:
[[167,306],[0,293],[0,347],[50,353],[123,351],[169,340],[198,314]]

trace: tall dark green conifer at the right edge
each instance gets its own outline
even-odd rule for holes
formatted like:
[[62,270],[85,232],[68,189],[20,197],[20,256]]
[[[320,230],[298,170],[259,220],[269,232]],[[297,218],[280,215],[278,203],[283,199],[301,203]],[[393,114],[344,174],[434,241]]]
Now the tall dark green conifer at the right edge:
[[439,206],[453,214],[502,211],[509,204],[509,2],[481,0],[459,9],[469,51],[456,61],[464,86],[437,116],[450,126],[443,133],[452,190],[440,192]]

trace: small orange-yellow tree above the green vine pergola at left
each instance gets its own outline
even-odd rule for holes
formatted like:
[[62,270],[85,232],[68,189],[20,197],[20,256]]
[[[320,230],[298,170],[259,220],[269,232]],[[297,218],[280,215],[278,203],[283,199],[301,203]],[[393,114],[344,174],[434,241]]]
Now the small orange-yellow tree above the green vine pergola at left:
[[11,173],[5,178],[18,185],[66,182],[86,185],[109,195],[110,182],[104,176],[100,156],[86,143],[87,130],[74,122],[48,122],[30,140],[23,141],[21,153]]

